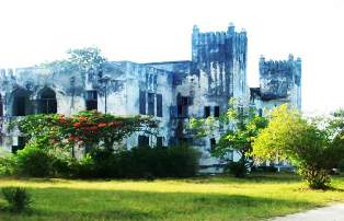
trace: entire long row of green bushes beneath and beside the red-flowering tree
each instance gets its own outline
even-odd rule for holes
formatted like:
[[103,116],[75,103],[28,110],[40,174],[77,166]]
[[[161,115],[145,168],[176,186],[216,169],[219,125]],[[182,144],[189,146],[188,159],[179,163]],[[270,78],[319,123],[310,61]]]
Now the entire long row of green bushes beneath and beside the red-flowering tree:
[[0,172],[34,177],[79,178],[190,177],[198,170],[198,152],[187,146],[140,147],[113,152],[95,148],[82,159],[42,149],[31,142],[11,158],[0,161]]

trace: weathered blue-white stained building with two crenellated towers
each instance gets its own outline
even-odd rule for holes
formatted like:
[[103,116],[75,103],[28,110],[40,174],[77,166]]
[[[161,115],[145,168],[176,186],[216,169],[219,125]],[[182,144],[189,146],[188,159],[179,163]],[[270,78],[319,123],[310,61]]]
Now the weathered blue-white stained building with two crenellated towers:
[[[289,102],[301,105],[301,61],[260,61],[260,88],[246,82],[246,32],[229,25],[226,32],[203,33],[194,26],[192,60],[136,63],[106,62],[102,72],[42,67],[0,71],[0,114],[2,121],[28,114],[98,109],[115,115],[152,115],[160,120],[156,137],[135,135],[127,147],[171,146],[188,142],[203,155],[204,172],[216,172],[221,162],[209,150],[223,127],[215,135],[194,140],[186,125],[191,117],[218,117],[237,98],[259,108]],[[15,151],[24,144],[18,131],[2,124],[1,146]],[[236,158],[232,154],[231,158]],[[220,171],[220,170],[219,170]]]

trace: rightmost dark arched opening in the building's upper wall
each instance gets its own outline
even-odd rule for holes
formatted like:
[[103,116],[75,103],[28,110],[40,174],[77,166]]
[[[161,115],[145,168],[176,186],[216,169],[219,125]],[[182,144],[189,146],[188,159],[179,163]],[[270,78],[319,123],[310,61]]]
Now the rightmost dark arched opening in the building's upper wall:
[[56,114],[57,101],[56,93],[48,88],[42,90],[38,100],[38,114]]

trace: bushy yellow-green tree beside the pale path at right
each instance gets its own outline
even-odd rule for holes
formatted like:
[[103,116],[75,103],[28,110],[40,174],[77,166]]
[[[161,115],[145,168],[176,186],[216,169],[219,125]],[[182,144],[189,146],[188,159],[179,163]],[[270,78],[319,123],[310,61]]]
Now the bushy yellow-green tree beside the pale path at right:
[[[268,126],[253,143],[252,155],[260,160],[288,160],[311,188],[326,188],[330,170],[343,159],[344,142],[339,118],[303,118],[282,105],[271,113]],[[343,130],[342,130],[343,131]]]

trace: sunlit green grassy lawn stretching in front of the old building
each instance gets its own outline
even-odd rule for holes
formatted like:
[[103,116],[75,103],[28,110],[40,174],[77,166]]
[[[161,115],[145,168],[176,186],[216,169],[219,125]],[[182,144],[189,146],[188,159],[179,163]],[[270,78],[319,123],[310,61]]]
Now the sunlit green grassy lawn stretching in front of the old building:
[[[0,178],[0,187],[28,188],[34,205],[0,220],[262,220],[344,201],[344,177],[332,190],[310,190],[295,175],[190,179],[76,181]],[[0,195],[0,207],[5,206]]]

